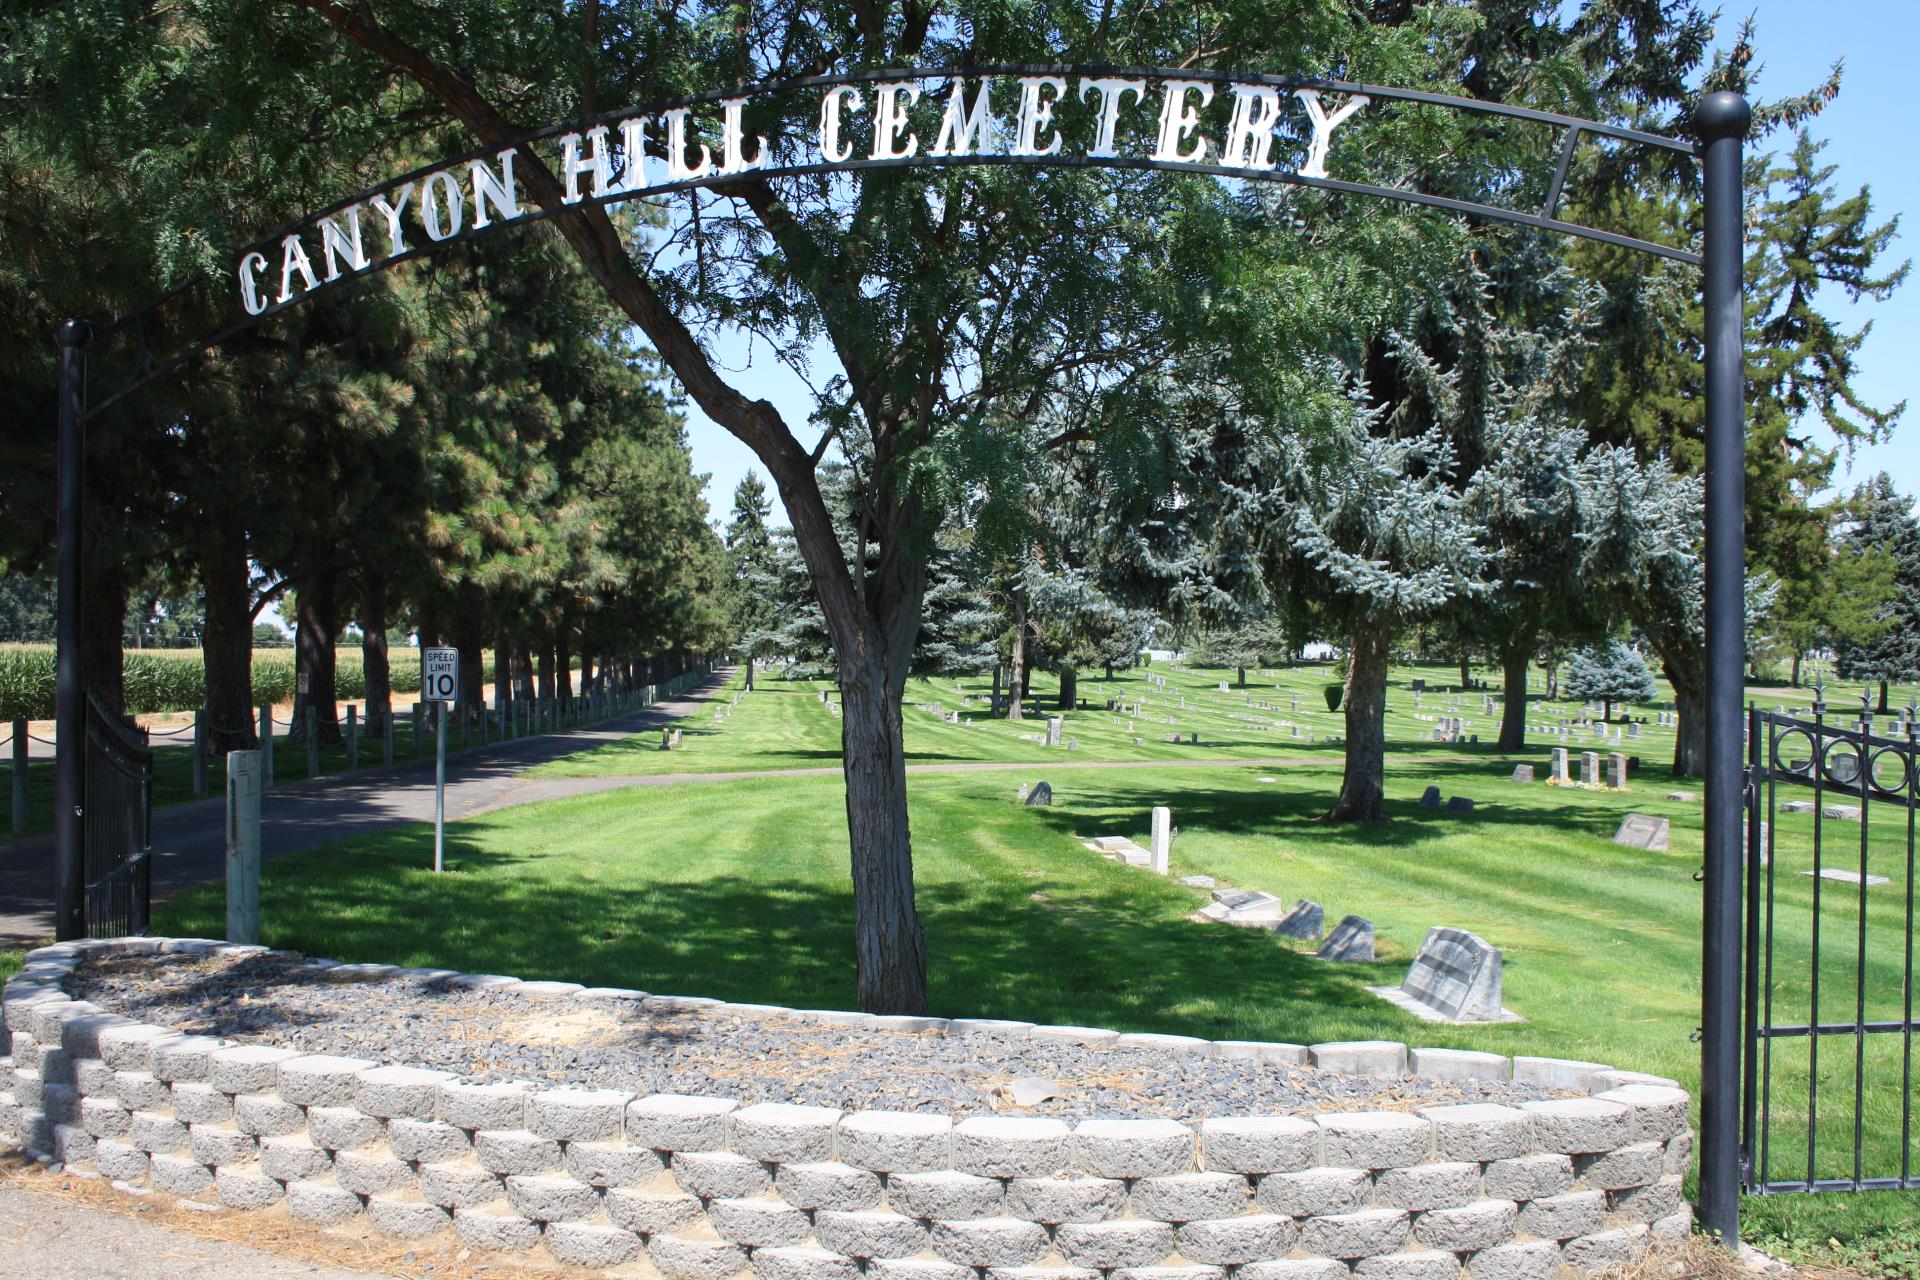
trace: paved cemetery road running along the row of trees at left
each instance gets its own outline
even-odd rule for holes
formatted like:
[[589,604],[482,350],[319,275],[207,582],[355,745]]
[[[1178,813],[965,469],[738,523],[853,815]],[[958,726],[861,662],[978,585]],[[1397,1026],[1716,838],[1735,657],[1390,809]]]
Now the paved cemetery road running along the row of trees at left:
[[[607,779],[526,779],[524,770],[618,743],[639,729],[680,720],[705,702],[726,672],[697,689],[584,729],[522,737],[447,756],[447,819],[532,800],[605,791]],[[593,785],[582,785],[593,783]],[[326,841],[434,819],[434,762],[332,773],[282,783],[261,802],[261,860]],[[227,873],[227,798],[175,804],[154,814],[154,896]],[[54,933],[54,837],[0,842],[0,948]]]

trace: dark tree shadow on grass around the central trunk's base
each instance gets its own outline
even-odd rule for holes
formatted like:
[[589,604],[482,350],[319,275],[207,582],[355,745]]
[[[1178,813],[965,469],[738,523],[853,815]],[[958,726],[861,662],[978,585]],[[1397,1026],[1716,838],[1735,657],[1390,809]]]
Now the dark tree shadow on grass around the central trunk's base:
[[[442,877],[422,869],[432,835],[420,831],[275,862],[261,887],[265,942],[346,961],[854,1007],[851,889],[739,875],[616,889],[524,875],[526,858],[449,837]],[[1363,988],[1392,981],[1265,933],[1192,927],[1192,894],[1164,881],[1064,885],[1043,869],[924,881],[916,896],[943,1015],[1336,1038],[1338,1025],[1382,1017]],[[219,912],[217,889],[196,889],[159,908],[156,931],[219,933]]]

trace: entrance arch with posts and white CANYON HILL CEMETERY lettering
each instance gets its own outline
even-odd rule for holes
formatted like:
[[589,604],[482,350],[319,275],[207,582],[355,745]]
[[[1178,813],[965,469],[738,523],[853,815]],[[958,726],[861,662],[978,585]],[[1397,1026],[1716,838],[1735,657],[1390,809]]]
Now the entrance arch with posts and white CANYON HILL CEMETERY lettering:
[[[755,134],[756,107],[793,94],[810,96],[808,117],[818,121],[818,129],[778,138]],[[1219,106],[1210,117],[1208,107],[1215,100]],[[1486,125],[1546,130],[1549,142],[1540,154],[1553,165],[1546,198],[1523,209],[1331,177],[1327,161],[1338,154],[1342,127],[1359,111],[1394,109],[1463,111]],[[1227,117],[1223,127],[1221,115]],[[1071,129],[1068,117],[1075,121]],[[1380,84],[1187,67],[1021,65],[874,69],[735,86],[495,138],[467,155],[340,200],[246,246],[227,274],[184,280],[102,330],[98,345],[86,324],[69,320],[60,326],[60,743],[79,743],[84,733],[79,581],[86,418],[321,290],[497,226],[563,219],[584,203],[689,188],[724,190],[728,178],[745,173],[780,178],[933,165],[1104,167],[1373,196],[1699,265],[1707,370],[1709,668],[1699,1207],[1711,1230],[1732,1238],[1741,1169],[1741,148],[1747,123],[1745,100],[1730,92],[1707,94],[1693,113],[1695,136],[1682,140]],[[1075,136],[1069,138],[1069,130]],[[1563,217],[1565,184],[1582,144],[1697,157],[1705,194],[1701,251]],[[227,319],[190,330],[177,315]],[[90,349],[108,372],[102,393],[92,401],[86,397]],[[81,752],[61,750],[56,781],[56,923],[61,938],[84,931],[84,806]]]

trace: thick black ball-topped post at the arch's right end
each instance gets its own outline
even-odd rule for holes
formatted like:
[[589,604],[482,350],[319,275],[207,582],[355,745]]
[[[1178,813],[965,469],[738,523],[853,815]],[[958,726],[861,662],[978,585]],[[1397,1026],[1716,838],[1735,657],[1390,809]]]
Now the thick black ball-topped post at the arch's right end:
[[1745,299],[1741,144],[1751,113],[1705,94],[1693,134],[1705,161],[1707,319],[1707,879],[1701,904],[1699,1219],[1740,1244],[1740,871],[1745,670]]

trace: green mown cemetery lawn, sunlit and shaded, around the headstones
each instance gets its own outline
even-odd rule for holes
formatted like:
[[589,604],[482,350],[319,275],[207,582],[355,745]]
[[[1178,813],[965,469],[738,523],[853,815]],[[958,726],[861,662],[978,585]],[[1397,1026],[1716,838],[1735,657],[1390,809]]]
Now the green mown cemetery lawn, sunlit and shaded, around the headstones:
[[[1169,687],[1148,685],[1148,676],[1165,676]],[[1071,752],[1029,737],[1044,731],[1044,720],[989,718],[983,681],[910,685],[910,764],[1008,766],[912,779],[916,885],[939,1013],[1308,1044],[1396,1038],[1586,1057],[1697,1084],[1699,806],[1667,800],[1676,787],[1665,768],[1670,731],[1645,723],[1638,741],[1619,747],[1644,756],[1626,793],[1517,785],[1507,779],[1521,760],[1546,777],[1549,745],[1574,752],[1611,745],[1536,733],[1528,752],[1500,754],[1490,745],[1498,718],[1484,712],[1480,693],[1438,689],[1457,674],[1396,672],[1390,821],[1327,825],[1317,818],[1340,770],[1340,747],[1327,741],[1340,731],[1340,718],[1321,699],[1331,672],[1248,672],[1246,691],[1221,693],[1219,681],[1233,677],[1165,668],[1112,683],[1098,674],[1083,677],[1087,706],[1066,714]],[[1413,677],[1434,689],[1419,708],[1405,689]],[[730,706],[739,685],[735,674],[726,697],[682,722],[678,750],[660,750],[655,731],[541,771],[657,775],[837,764],[839,720],[820,702],[828,685],[762,674],[758,689]],[[1146,704],[1139,706],[1142,693]],[[1043,702],[1052,702],[1050,695],[1048,681]],[[1108,699],[1137,710],[1110,712]],[[1248,699],[1277,710],[1250,708]],[[960,710],[964,723],[941,718],[950,710]],[[1438,714],[1465,716],[1467,731],[1484,743],[1434,743],[1423,716]],[[1555,725],[1561,716],[1574,720],[1578,708],[1540,704],[1530,720]],[[1183,741],[1165,741],[1171,733]],[[1188,737],[1194,733],[1198,743]],[[1156,760],[1187,768],[1091,768]],[[1016,785],[1041,777],[1054,785],[1054,808],[1018,804]],[[1419,808],[1427,785],[1471,796],[1475,814]],[[1697,791],[1697,783],[1680,787]],[[1198,892],[1104,862],[1073,839],[1144,841],[1154,804],[1173,808],[1177,875],[1206,873],[1313,898],[1327,908],[1329,925],[1348,912],[1365,915],[1377,925],[1380,960],[1331,965],[1265,933],[1190,923]],[[1626,812],[1668,818],[1672,848],[1615,846],[1609,837]],[[1776,818],[1772,992],[1782,1021],[1812,1011],[1814,881],[1797,875],[1811,865],[1811,816]],[[1834,844],[1849,835],[1843,823],[1826,823],[1826,833],[1824,864],[1857,865],[1859,827],[1843,848]],[[693,781],[501,810],[449,829],[449,871],[442,877],[426,869],[430,850],[430,831],[403,829],[269,864],[267,942],[355,961],[732,1000],[854,1002],[837,775]],[[1897,1015],[1903,992],[1905,829],[1876,823],[1868,865],[1891,879],[1866,898],[1872,1019]],[[1820,883],[1820,1019],[1851,1021],[1859,890]],[[1503,948],[1505,1002],[1524,1023],[1434,1027],[1365,992],[1367,984],[1398,983],[1432,925],[1473,929]],[[156,931],[219,933],[217,889],[157,906]],[[1862,1115],[1868,1173],[1899,1163],[1901,1063],[1893,1052],[1893,1044],[1876,1044],[1860,1063],[1870,1094]],[[1851,1086],[1853,1071],[1851,1050],[1839,1040],[1822,1046],[1816,1073],[1805,1046],[1797,1055],[1791,1046],[1776,1050],[1770,1161],[1778,1176],[1805,1167],[1805,1138],[1795,1134],[1805,1134],[1811,1075],[1822,1103],[1816,1173],[1851,1173],[1855,1121],[1832,1100]],[[1920,1274],[1916,1196],[1749,1199],[1745,1215],[1749,1236],[1763,1245],[1878,1274]]]

